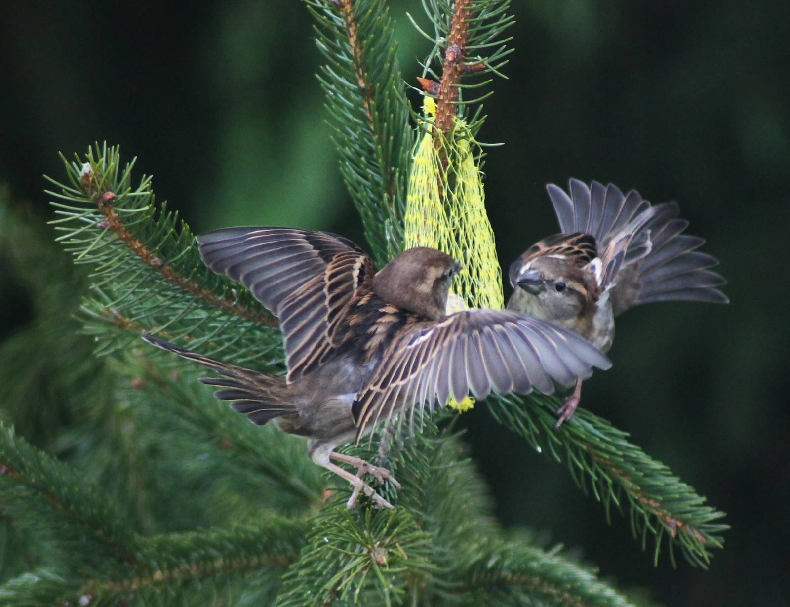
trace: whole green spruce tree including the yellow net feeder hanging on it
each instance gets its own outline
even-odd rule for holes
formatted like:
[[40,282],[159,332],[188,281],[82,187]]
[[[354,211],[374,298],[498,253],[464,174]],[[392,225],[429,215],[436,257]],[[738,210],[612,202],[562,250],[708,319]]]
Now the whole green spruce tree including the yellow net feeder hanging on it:
[[[440,247],[464,261],[459,307],[501,307],[477,137],[510,54],[509,2],[423,6],[412,110],[385,2],[308,0],[340,172],[379,267],[406,246]],[[39,222],[0,205],[0,254],[36,302],[0,347],[0,605],[641,604],[502,529],[453,429],[468,402],[412,436],[344,447],[386,454],[403,484],[386,494],[393,511],[366,500],[348,511],[348,487],[301,439],[250,424],[194,364],[140,339],[282,372],[276,318],[201,263],[189,228],[117,147],[63,160],[48,192],[70,260]],[[608,518],[626,518],[656,566],[666,554],[706,567],[722,514],[600,417],[579,410],[555,430],[560,404],[532,394],[479,406],[563,463]]]

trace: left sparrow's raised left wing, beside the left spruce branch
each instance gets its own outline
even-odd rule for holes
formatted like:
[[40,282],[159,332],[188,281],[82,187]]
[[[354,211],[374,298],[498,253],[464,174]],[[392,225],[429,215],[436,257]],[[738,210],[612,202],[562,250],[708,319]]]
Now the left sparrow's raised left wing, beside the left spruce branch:
[[203,261],[273,311],[283,332],[288,382],[323,364],[357,290],[375,273],[351,240],[294,228],[223,228],[198,236]]

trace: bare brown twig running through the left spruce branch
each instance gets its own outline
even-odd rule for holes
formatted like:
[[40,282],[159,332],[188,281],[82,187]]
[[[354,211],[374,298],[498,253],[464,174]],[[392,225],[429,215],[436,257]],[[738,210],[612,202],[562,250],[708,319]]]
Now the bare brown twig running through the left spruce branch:
[[189,278],[182,276],[182,274],[167,265],[161,258],[156,257],[145,244],[134,237],[118,217],[118,213],[116,213],[115,209],[112,207],[112,202],[115,201],[115,194],[113,192],[100,191],[96,194],[95,199],[96,204],[104,215],[102,221],[103,227],[114,232],[143,263],[161,273],[167,281],[170,281],[183,291],[190,293],[190,295],[200,298],[205,301],[205,303],[220,307],[233,315],[257,322],[262,326],[277,326],[277,321],[273,316],[235,304],[226,297],[219,296],[208,288],[201,287],[201,285],[198,285],[196,282],[190,281]]

